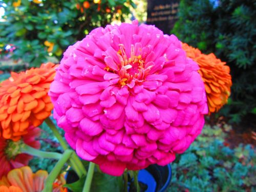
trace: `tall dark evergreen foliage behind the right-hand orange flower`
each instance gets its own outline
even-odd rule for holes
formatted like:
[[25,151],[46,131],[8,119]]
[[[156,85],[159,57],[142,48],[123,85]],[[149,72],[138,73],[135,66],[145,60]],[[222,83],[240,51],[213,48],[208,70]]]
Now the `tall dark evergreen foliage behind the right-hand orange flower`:
[[233,86],[229,106],[223,112],[233,121],[256,114],[255,18],[255,1],[182,0],[172,31],[190,46],[206,54],[213,52],[227,62]]

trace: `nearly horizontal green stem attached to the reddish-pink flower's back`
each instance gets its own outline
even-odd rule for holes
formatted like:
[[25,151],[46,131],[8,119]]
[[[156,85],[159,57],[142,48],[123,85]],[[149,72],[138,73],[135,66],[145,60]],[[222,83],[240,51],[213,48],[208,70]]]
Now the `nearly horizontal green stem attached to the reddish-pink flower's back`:
[[22,153],[26,153],[32,156],[40,157],[40,158],[52,158],[52,159],[61,159],[62,154],[56,152],[44,152],[37,150],[27,144],[21,148]]

